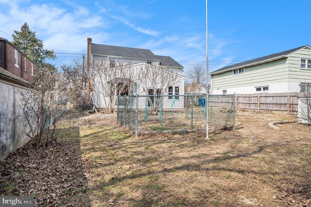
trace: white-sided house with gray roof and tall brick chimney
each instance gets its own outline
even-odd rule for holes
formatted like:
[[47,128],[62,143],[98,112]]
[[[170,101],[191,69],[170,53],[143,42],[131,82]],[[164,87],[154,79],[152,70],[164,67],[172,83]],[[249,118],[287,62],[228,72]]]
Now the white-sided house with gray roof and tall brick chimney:
[[163,107],[169,108],[184,94],[183,66],[149,49],[93,44],[87,38],[87,71],[94,75],[93,96],[99,108],[115,107],[117,95],[168,95]]

